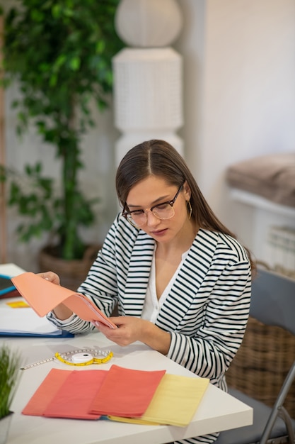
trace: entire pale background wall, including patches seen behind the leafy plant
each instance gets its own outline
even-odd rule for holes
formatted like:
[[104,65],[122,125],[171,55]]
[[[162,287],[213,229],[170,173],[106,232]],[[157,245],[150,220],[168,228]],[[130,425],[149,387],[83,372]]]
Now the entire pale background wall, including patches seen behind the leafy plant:
[[[295,2],[178,1],[185,18],[175,44],[184,57],[185,125],[180,135],[185,157],[214,211],[255,250],[257,214],[231,201],[224,174],[238,160],[295,149]],[[52,147],[32,133],[23,142],[16,139],[12,96],[13,91],[6,91],[8,163],[21,167],[37,158],[57,174]],[[97,113],[96,119],[98,126],[83,146],[84,187],[102,199],[93,240],[103,238],[117,211],[113,159],[118,133],[111,110]],[[7,260],[33,270],[39,243],[30,249],[18,245],[14,225],[10,217]]]

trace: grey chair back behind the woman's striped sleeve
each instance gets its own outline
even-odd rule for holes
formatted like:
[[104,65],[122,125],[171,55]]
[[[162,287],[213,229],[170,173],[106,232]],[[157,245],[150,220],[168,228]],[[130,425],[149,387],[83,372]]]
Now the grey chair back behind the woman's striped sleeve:
[[295,335],[295,279],[258,268],[252,283],[250,316]]

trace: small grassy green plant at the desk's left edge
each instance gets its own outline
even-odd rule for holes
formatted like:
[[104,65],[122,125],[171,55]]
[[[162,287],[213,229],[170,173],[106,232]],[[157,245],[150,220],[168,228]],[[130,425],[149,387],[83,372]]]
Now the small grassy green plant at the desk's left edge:
[[1,345],[0,348],[0,419],[10,413],[11,402],[18,383],[21,358],[18,352]]

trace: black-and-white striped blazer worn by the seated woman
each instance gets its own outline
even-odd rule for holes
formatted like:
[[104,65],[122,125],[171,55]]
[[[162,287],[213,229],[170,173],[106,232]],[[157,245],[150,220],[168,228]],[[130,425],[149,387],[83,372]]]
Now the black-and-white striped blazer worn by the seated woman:
[[[79,292],[108,316],[141,316],[155,240],[118,215]],[[200,229],[156,319],[170,332],[168,357],[226,389],[224,372],[245,332],[250,308],[250,262],[229,235]],[[76,315],[48,315],[72,333],[93,330]]]

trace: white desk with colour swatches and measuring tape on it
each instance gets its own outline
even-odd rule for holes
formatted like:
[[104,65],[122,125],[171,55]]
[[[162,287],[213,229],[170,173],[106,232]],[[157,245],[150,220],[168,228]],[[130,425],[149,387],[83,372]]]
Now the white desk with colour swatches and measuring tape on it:
[[[1,301],[1,304],[3,303],[4,301]],[[0,338],[0,343],[3,342],[6,342],[11,348],[21,350],[23,365],[52,357],[57,351],[62,353],[75,348],[98,346],[103,350],[112,350],[114,353],[112,360],[103,365],[75,367],[75,370],[78,369],[82,372],[90,368],[108,370],[112,364],[116,364],[136,370],[166,369],[168,373],[195,377],[184,367],[144,344],[135,343],[121,348],[110,343],[101,333],[64,339]],[[20,384],[11,406],[14,414],[7,444],[163,444],[215,431],[248,426],[253,421],[253,410],[249,406],[222,392],[212,384],[209,384],[190,425],[185,428],[22,415],[21,411],[30,397],[45,379],[50,369],[54,367],[73,369],[73,367],[54,360],[21,372]]]

